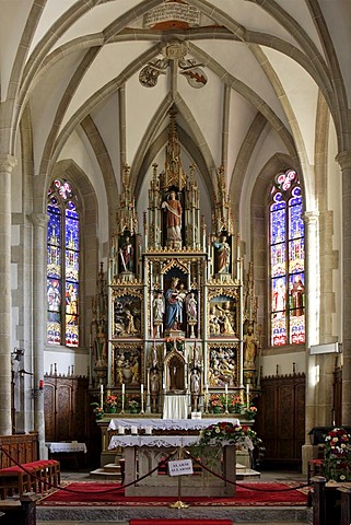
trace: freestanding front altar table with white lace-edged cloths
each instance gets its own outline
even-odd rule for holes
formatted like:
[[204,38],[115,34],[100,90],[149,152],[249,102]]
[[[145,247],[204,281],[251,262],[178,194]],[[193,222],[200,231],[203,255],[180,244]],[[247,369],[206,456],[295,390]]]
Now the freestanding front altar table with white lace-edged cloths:
[[[222,460],[218,460],[215,465],[210,468],[215,471],[220,477],[208,474],[204,469],[202,471],[196,471],[194,475],[182,476],[179,481],[178,476],[168,476],[164,472],[159,472],[157,469],[150,476],[141,479],[143,476],[153,470],[157,464],[165,459],[175,452],[172,459],[177,459],[177,453],[179,447],[188,447],[199,440],[199,433],[201,429],[209,427],[210,424],[218,423],[217,419],[200,419],[200,420],[160,420],[160,419],[114,419],[110,421],[108,429],[117,430],[118,427],[124,431],[131,429],[132,427],[138,431],[144,431],[152,428],[154,432],[152,435],[147,434],[118,434],[113,435],[108,445],[109,450],[114,450],[118,446],[122,447],[125,458],[125,485],[127,486],[125,491],[126,495],[177,495],[178,483],[182,483],[183,495],[194,495],[195,493],[200,497],[233,497],[235,495],[235,470],[236,470],[236,452],[235,446],[223,446]],[[227,421],[223,419],[223,421]],[[234,421],[231,419],[231,421]],[[237,420],[236,420],[237,421]],[[179,431],[192,431],[192,435],[187,434],[162,434],[157,435],[157,431],[179,430]],[[194,431],[196,435],[194,435]],[[213,447],[217,452],[220,452],[218,447]],[[206,459],[203,459],[206,464]],[[225,481],[226,479],[226,481]],[[133,481],[134,485],[130,485]]]

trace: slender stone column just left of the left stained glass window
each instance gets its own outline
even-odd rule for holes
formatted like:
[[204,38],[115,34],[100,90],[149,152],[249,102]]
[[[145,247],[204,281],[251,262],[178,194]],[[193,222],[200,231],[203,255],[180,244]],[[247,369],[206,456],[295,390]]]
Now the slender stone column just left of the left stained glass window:
[[44,378],[46,343],[46,213],[33,213],[33,387],[34,425],[38,432],[39,457],[45,458],[44,392],[38,390]]

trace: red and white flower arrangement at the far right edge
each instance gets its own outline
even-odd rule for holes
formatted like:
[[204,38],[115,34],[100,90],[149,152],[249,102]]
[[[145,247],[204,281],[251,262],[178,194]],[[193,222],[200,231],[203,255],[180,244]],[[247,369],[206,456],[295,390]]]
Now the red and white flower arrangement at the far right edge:
[[334,481],[351,481],[351,436],[344,429],[326,435],[321,474]]

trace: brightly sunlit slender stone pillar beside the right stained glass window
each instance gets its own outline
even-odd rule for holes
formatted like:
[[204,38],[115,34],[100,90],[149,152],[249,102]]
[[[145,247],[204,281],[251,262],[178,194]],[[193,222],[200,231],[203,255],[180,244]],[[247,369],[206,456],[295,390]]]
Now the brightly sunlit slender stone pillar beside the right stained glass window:
[[316,425],[315,396],[316,396],[316,360],[309,355],[311,345],[318,341],[318,289],[319,272],[316,271],[316,260],[318,255],[318,212],[308,211],[304,214],[305,222],[305,349],[306,349],[306,409],[305,409],[305,444],[302,448],[303,472],[307,472],[308,460],[314,457],[314,451],[309,443],[308,432]]

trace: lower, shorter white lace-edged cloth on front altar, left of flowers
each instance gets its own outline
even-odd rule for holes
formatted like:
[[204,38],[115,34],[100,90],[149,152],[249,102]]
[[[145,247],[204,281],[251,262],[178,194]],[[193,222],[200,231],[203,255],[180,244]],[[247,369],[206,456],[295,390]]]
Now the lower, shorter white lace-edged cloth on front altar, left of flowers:
[[113,435],[108,450],[117,446],[189,446],[198,439],[198,435]]

